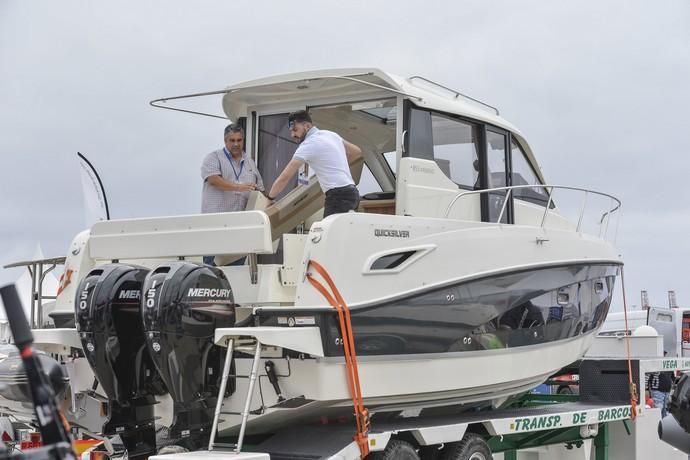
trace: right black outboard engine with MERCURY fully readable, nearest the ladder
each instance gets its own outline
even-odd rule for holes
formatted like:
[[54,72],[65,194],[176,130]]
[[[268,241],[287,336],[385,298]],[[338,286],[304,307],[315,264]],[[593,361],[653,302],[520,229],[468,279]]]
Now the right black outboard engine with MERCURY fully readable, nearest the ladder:
[[170,437],[199,448],[210,435],[225,356],[214,332],[235,324],[230,283],[216,267],[175,262],[153,270],[142,292],[146,343],[175,403]]

